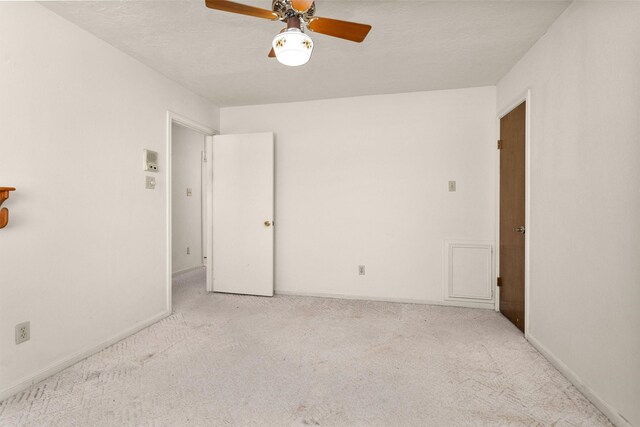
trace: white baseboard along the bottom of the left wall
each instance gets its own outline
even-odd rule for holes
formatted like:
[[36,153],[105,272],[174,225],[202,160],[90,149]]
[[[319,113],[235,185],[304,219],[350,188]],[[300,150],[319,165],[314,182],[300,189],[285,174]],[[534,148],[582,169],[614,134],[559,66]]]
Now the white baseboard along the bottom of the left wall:
[[62,371],[63,369],[68,368],[69,366],[73,365],[74,363],[77,363],[79,361],[81,361],[82,359],[86,359],[87,357],[96,354],[99,351],[104,350],[105,348],[109,347],[110,345],[113,345],[115,343],[117,343],[118,341],[121,341],[133,334],[135,334],[136,332],[141,331],[142,329],[153,325],[154,323],[156,323],[159,320],[164,319],[165,317],[169,316],[171,313],[168,311],[163,311],[159,314],[156,314],[146,320],[143,320],[142,322],[136,324],[135,326],[133,326],[132,328],[129,328],[123,332],[120,332],[119,334],[116,334],[114,336],[112,336],[111,338],[107,339],[106,341],[101,342],[100,344],[97,345],[93,345],[91,347],[86,347],[78,352],[76,352],[75,354],[69,356],[69,357],[65,357],[61,360],[58,360],[56,362],[53,362],[52,364],[50,364],[49,366],[41,369],[40,371],[31,374],[31,375],[27,375],[26,377],[18,380],[16,383],[14,383],[13,385],[0,390],[0,401],[5,400],[11,396],[13,396],[14,394],[20,393],[21,391],[31,387],[33,384],[38,383],[48,377],[50,377],[53,374],[56,374],[60,371]]

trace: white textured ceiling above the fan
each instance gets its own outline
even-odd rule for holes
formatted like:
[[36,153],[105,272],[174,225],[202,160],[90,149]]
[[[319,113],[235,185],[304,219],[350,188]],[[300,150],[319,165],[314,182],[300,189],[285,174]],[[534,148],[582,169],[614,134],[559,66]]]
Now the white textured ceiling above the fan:
[[569,3],[317,0],[316,16],[373,29],[362,44],[309,32],[313,56],[296,68],[267,58],[282,23],[204,0],[43,4],[224,107],[493,85]]

